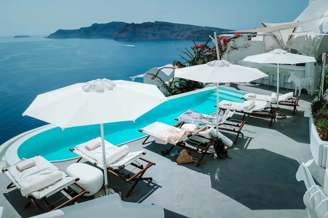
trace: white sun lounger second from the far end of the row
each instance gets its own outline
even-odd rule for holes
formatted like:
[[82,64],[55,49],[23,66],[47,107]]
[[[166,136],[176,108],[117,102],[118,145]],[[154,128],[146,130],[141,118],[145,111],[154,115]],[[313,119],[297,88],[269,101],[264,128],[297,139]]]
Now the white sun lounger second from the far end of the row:
[[[243,113],[243,119],[245,119],[246,114],[250,115],[258,115],[271,118],[269,126],[272,126],[272,121],[276,120],[276,107],[271,107],[271,101],[258,101],[255,100],[255,104],[249,110],[244,110],[243,103],[231,101],[232,104],[230,106],[223,105],[222,101],[219,102],[218,107],[221,110],[236,110],[236,112]],[[215,105],[216,107],[216,105]]]

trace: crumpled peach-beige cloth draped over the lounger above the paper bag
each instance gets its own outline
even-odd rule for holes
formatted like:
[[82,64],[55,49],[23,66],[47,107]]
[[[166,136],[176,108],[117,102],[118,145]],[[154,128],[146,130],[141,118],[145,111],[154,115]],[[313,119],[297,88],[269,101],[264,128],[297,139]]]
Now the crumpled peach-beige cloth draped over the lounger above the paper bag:
[[170,126],[167,129],[165,129],[163,132],[159,132],[155,135],[155,142],[158,144],[166,145],[171,141],[172,143],[176,144],[185,134],[195,133],[198,131],[198,129],[202,129],[201,131],[204,131],[205,128],[206,128],[205,125],[197,126],[194,130],[190,130],[188,128],[179,129],[174,126]]

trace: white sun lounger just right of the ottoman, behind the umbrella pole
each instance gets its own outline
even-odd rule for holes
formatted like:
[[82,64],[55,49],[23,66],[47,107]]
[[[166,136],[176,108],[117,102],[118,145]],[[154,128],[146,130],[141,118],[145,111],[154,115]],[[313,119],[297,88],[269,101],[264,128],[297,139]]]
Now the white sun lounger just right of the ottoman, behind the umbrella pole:
[[[98,137],[97,139],[101,140],[100,137]],[[102,157],[102,147],[100,146],[100,147],[98,147],[98,148],[96,148],[92,151],[88,151],[87,149],[85,149],[85,145],[87,143],[88,142],[85,142],[83,144],[75,146],[75,148],[73,148],[73,149],[70,149],[71,152],[73,152],[74,154],[77,154],[78,156],[80,156],[80,158],[76,161],[76,163],[79,162],[82,158],[84,158],[87,161],[89,161],[90,163],[93,163],[97,167],[103,169],[103,164],[99,163],[100,161],[102,162],[102,158],[103,158]],[[118,148],[119,147],[117,147],[117,146],[115,146],[115,145],[113,145],[110,142],[105,140],[106,154],[109,154],[111,151],[117,150]],[[115,161],[111,164],[108,164],[106,166],[107,171],[109,173],[112,173],[113,175],[119,177],[120,179],[126,181],[127,183],[131,183],[131,182],[135,181],[132,188],[127,193],[126,197],[130,196],[131,192],[133,191],[134,187],[138,184],[139,181],[149,180],[148,185],[153,181],[152,177],[145,177],[145,178],[142,177],[143,174],[146,172],[146,170],[148,168],[155,165],[154,162],[142,158],[142,156],[145,155],[145,154],[146,153],[144,151],[129,152],[128,154],[126,154],[123,157],[119,158],[117,161]],[[147,166],[143,167],[143,165],[138,164],[138,162],[136,162],[136,160],[138,160],[138,159],[147,162]],[[134,162],[136,162],[136,163],[134,163]],[[134,174],[131,177],[129,176],[129,173],[122,174],[118,171],[119,169],[124,169],[126,166],[128,166],[130,164],[132,166],[140,169],[140,171],[138,173]]]

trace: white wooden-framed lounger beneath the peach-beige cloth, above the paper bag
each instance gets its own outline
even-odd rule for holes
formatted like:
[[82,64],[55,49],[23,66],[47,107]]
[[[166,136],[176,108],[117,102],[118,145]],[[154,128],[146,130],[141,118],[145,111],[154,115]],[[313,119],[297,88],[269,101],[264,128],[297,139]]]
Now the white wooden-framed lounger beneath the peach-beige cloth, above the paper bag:
[[[144,128],[142,128],[141,130],[139,130],[139,132],[147,134],[148,136],[146,137],[146,139],[142,142],[142,144],[145,144],[147,139],[149,138],[149,136],[153,136],[155,137],[156,134],[161,133],[163,131],[165,131],[167,128],[176,128],[178,130],[180,130],[180,128],[177,127],[173,127],[170,125],[167,125],[165,123],[161,123],[161,122],[154,122]],[[202,131],[203,129],[197,129],[194,133],[192,134],[185,134],[184,136],[182,136],[180,138],[180,140],[177,143],[173,143],[173,142],[169,142],[170,144],[172,144],[172,147],[170,148],[170,151],[174,148],[174,146],[179,146],[181,148],[184,148],[188,151],[197,153],[197,154],[201,154],[201,158],[198,161],[198,164],[196,165],[197,167],[199,167],[200,163],[202,162],[202,160],[204,159],[205,154],[210,154],[210,155],[214,155],[214,153],[208,152],[208,149],[210,148],[210,146],[215,142],[215,140],[211,139],[211,138],[206,138],[208,140],[210,140],[209,143],[206,143],[204,145],[204,147],[202,149],[199,149],[197,147],[191,146],[188,143],[186,143],[188,140],[190,140],[192,137],[194,136],[198,136],[198,137],[203,137],[204,136],[199,136],[198,133],[200,131]]]

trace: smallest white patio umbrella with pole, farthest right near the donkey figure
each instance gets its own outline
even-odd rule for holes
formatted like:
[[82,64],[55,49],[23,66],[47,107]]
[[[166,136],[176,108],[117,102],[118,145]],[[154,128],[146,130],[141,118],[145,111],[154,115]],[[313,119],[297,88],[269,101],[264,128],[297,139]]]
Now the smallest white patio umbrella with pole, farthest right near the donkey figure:
[[243,61],[256,62],[260,64],[277,64],[277,107],[279,103],[279,64],[317,62],[314,57],[288,53],[280,48],[268,53],[247,56],[243,59]]

